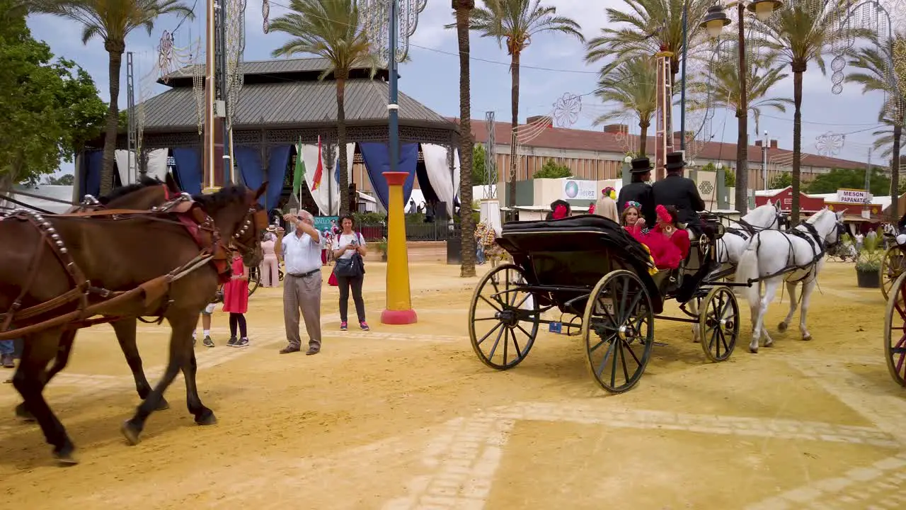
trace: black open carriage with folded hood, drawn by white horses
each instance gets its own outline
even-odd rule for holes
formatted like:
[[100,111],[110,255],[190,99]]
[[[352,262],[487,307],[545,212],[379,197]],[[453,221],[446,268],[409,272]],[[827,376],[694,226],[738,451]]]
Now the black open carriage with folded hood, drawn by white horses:
[[[469,307],[472,348],[488,367],[516,367],[539,326],[554,322],[542,314],[556,308],[581,318],[573,328],[581,330],[589,368],[612,393],[629,390],[641,378],[656,318],[699,324],[708,359],[728,359],[739,333],[739,307],[732,284],[718,282],[713,263],[723,227],[708,218],[705,230],[678,270],[657,271],[646,247],[602,216],[506,223],[497,242],[514,263],[478,282]],[[660,315],[666,299],[679,301],[686,317]],[[692,302],[698,313],[687,309]]]

